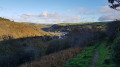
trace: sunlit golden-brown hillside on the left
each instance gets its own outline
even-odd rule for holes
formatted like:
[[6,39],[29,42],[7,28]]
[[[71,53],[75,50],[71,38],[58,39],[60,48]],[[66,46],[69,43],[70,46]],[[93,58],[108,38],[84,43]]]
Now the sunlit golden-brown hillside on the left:
[[40,28],[0,18],[0,40],[50,35]]

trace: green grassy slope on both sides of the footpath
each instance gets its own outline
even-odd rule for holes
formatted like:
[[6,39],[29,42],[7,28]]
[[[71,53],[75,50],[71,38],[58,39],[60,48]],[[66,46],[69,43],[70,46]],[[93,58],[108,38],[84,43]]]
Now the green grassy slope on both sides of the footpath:
[[114,67],[114,64],[110,63],[111,50],[108,46],[108,40],[96,42],[95,45],[87,47],[83,53],[79,54],[76,58],[71,59],[66,63],[64,67],[89,67],[92,57],[94,55],[95,46],[98,47],[98,60],[95,63],[95,67]]

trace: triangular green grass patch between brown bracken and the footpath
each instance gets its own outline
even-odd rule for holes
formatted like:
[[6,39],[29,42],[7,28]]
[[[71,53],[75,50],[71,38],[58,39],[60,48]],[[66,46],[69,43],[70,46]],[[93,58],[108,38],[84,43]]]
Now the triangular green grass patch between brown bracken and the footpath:
[[89,67],[94,56],[95,48],[99,43],[95,43],[90,47],[86,47],[84,51],[76,58],[69,60],[63,67]]

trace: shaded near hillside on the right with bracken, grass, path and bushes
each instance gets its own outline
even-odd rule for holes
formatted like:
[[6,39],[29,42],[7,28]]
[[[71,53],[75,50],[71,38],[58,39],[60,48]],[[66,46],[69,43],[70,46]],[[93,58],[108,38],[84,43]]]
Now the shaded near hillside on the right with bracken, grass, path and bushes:
[[[52,54],[20,67],[120,67],[119,44],[119,21],[108,23],[105,30],[76,27],[68,34],[67,39],[54,40],[48,44],[47,50]],[[65,47],[67,49],[61,51]],[[82,50],[77,50],[79,53],[76,52],[77,48],[71,50],[73,47]]]

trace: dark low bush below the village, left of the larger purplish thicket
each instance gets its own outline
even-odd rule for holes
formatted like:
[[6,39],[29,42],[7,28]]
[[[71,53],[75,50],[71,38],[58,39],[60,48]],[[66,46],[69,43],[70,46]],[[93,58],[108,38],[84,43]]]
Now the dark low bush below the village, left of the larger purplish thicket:
[[56,39],[48,43],[46,53],[50,54],[50,53],[54,53],[67,48],[70,48],[70,45],[67,39]]

